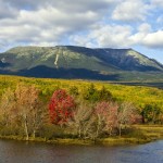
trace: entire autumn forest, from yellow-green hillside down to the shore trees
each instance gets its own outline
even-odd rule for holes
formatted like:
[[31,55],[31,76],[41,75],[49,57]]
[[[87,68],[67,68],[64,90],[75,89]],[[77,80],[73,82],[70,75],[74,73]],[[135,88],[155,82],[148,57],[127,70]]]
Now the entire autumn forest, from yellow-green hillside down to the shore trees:
[[118,84],[0,76],[0,136],[97,140],[163,124],[163,90]]

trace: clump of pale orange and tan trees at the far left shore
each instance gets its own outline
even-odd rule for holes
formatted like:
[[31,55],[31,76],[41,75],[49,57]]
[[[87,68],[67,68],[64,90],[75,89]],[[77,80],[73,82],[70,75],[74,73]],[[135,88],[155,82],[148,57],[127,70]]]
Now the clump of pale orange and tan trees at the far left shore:
[[42,110],[38,99],[39,91],[34,86],[20,84],[15,90],[10,88],[2,95],[1,115],[3,124],[8,128],[13,124],[21,129],[23,127],[26,140],[29,135],[35,137],[37,128],[42,122]]

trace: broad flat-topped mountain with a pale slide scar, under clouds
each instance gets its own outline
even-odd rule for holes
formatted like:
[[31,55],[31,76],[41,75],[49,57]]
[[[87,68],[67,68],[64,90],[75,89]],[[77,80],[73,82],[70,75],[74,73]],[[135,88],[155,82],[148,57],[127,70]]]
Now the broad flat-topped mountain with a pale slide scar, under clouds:
[[0,53],[0,74],[127,80],[163,78],[163,65],[133,49],[16,47]]

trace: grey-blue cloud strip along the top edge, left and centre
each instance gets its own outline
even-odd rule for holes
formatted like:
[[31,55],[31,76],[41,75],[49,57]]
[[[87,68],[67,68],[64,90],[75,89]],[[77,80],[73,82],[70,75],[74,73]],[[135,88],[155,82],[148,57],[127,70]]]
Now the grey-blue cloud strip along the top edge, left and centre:
[[42,7],[51,5],[58,8],[61,11],[68,12],[85,12],[88,10],[103,10],[112,3],[118,0],[0,0],[0,3],[8,3],[12,8],[26,9],[26,10],[38,10]]

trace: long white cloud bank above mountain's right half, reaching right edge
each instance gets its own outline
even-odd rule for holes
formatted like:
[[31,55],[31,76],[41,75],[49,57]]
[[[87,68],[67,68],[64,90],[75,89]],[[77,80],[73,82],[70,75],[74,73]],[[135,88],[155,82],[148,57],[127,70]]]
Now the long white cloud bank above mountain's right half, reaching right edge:
[[101,25],[95,27],[88,35],[75,35],[71,41],[78,46],[129,48],[135,45],[163,49],[163,30],[152,32],[147,23],[141,24],[136,33],[131,26]]

